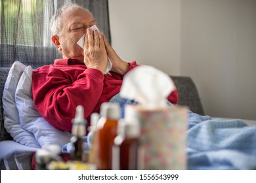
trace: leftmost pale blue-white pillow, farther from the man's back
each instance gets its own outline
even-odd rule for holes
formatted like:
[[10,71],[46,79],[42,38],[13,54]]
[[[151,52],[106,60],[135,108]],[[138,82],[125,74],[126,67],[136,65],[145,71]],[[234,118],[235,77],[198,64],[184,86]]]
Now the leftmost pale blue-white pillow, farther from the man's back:
[[15,91],[18,80],[20,80],[20,76],[25,68],[26,66],[20,63],[20,61],[15,61],[7,76],[2,98],[4,125],[5,129],[10,133],[14,141],[24,144],[25,146],[40,148],[40,145],[33,136],[33,133],[22,129],[18,109],[16,108],[15,103]]

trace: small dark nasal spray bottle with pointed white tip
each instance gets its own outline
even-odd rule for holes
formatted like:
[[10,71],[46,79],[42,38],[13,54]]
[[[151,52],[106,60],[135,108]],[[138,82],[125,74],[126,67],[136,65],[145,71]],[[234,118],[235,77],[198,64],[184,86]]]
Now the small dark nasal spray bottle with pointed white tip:
[[73,149],[70,158],[74,161],[87,161],[88,155],[85,154],[85,144],[83,137],[86,135],[85,127],[87,121],[84,118],[83,107],[78,105],[75,111],[75,118],[72,120],[72,138]]

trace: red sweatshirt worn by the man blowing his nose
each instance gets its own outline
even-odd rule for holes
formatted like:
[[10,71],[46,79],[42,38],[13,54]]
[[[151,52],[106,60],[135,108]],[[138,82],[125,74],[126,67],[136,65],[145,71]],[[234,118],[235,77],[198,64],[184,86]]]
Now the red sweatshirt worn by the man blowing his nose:
[[[135,61],[128,72],[137,67]],[[87,67],[77,59],[56,59],[54,64],[33,71],[33,101],[38,112],[51,125],[71,131],[75,108],[82,105],[85,118],[100,111],[100,105],[120,92],[123,76],[110,72],[103,75]],[[176,104],[178,92],[172,92],[168,100]]]

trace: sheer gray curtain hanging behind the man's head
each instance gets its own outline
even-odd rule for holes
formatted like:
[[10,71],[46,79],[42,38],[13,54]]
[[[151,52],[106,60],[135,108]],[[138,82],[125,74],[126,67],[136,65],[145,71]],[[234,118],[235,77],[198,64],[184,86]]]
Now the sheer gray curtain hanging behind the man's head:
[[[51,42],[49,22],[54,11],[72,0],[1,0],[0,67],[16,60],[33,69],[62,58]],[[100,31],[110,40],[108,0],[72,1],[88,8]]]

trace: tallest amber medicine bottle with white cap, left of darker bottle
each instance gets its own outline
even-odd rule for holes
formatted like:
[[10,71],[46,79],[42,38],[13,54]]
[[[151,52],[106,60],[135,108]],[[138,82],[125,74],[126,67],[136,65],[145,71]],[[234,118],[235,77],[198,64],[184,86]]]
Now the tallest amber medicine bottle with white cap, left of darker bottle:
[[100,120],[98,121],[98,158],[97,167],[100,170],[112,169],[112,146],[117,136],[117,124],[121,115],[117,103],[102,103]]

